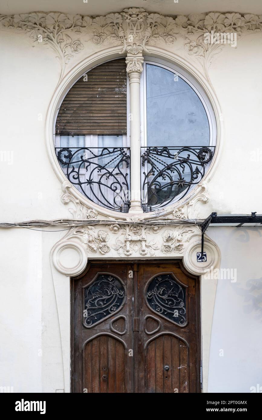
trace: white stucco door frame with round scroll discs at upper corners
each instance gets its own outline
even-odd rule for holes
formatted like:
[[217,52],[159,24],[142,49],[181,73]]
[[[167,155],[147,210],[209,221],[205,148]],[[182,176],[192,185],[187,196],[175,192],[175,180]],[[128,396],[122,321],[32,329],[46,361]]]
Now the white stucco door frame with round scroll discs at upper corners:
[[[194,262],[196,249],[199,251],[201,241],[199,235],[194,235],[185,249],[183,265],[189,273],[200,277],[200,328],[201,328],[201,358],[202,358],[202,386],[203,392],[207,392],[207,378],[210,351],[210,336],[212,330],[212,317],[215,304],[217,280],[204,278],[206,268],[220,266],[220,250],[208,237],[205,238],[205,250],[207,252],[208,265],[204,262],[199,265]],[[63,254],[63,261],[61,254]],[[92,258],[92,256],[91,256]],[[96,258],[97,259],[97,258]],[[102,257],[105,260],[105,257]],[[144,258],[141,258],[144,260]],[[78,260],[78,263],[76,263]],[[120,260],[120,259],[118,259]],[[123,258],[122,258],[123,260]],[[125,260],[132,260],[131,257]],[[171,259],[170,259],[171,260]],[[60,241],[52,248],[50,264],[52,269],[53,284],[55,289],[58,320],[60,327],[60,339],[63,355],[63,384],[61,388],[65,392],[71,389],[71,284],[70,276],[78,276],[84,271],[88,261],[88,254],[83,245],[78,241]],[[63,385],[63,386],[62,386]]]

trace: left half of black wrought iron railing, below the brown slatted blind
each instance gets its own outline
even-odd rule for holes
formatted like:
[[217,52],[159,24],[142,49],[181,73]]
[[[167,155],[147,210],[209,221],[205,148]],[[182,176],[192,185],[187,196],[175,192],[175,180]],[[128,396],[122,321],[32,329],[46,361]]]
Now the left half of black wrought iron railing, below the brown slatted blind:
[[128,212],[129,148],[56,147],[56,153],[68,180],[85,197],[110,210]]

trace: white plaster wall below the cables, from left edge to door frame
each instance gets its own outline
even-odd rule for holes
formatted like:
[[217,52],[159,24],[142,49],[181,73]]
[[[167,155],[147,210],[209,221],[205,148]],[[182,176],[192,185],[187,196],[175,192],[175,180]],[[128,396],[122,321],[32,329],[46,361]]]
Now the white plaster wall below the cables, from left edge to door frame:
[[[0,386],[12,386],[13,392],[55,392],[65,388],[50,266],[52,246],[65,232],[56,230],[1,231]],[[69,285],[69,279],[66,282]],[[60,284],[63,288],[64,282]],[[61,298],[70,300],[68,288]],[[64,316],[70,320],[68,313]],[[69,323],[66,326],[69,331]],[[70,361],[66,362],[70,365]]]

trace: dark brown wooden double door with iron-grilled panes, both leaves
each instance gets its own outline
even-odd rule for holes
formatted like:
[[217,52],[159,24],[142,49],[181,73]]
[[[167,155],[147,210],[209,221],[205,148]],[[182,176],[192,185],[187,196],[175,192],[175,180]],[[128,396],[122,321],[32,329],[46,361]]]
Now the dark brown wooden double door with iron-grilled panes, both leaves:
[[175,262],[72,279],[72,392],[200,392],[199,280]]

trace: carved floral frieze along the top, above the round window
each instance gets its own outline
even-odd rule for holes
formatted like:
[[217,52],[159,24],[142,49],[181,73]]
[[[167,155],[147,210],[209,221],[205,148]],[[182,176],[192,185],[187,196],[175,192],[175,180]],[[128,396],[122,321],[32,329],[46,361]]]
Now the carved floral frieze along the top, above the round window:
[[261,32],[262,15],[210,12],[163,16],[136,7],[95,17],[31,12],[0,15],[0,28],[23,30],[34,42],[48,45],[60,62],[60,80],[69,60],[84,50],[86,39],[92,39],[98,47],[119,45],[121,53],[136,56],[147,52],[149,45],[173,46],[178,38],[183,40],[185,53],[199,61],[209,80],[208,68],[225,45],[205,43],[204,34],[234,32],[240,37],[244,33]]

